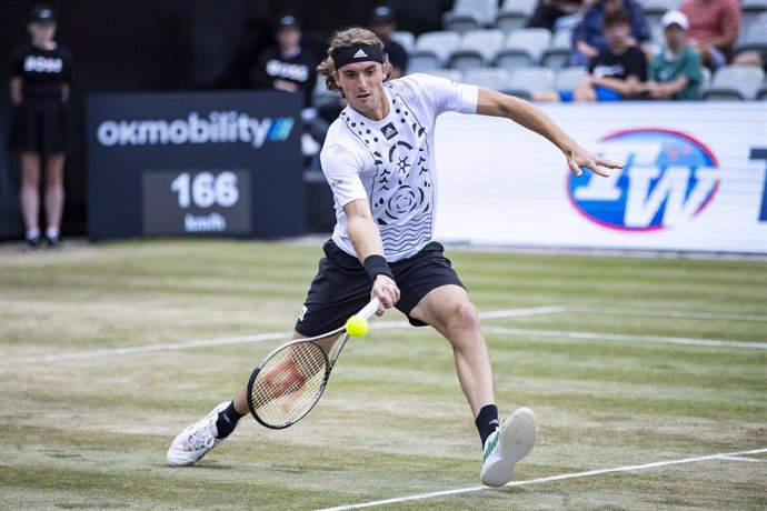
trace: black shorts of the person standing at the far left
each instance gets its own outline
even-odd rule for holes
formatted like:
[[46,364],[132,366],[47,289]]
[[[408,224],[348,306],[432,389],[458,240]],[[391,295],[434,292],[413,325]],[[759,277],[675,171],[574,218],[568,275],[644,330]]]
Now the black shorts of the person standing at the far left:
[[13,112],[10,147],[17,151],[58,154],[69,150],[69,104],[58,99],[24,99]]

